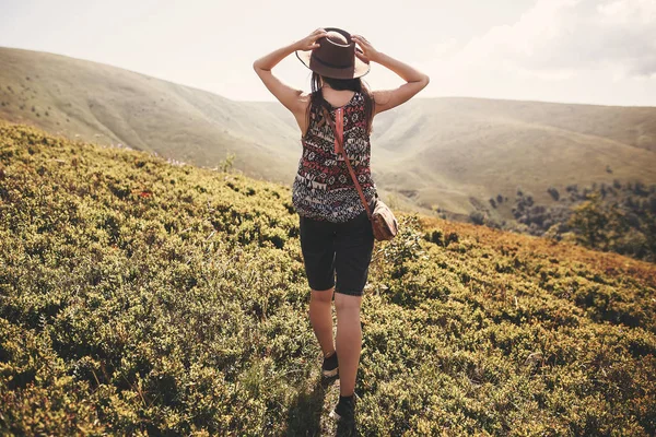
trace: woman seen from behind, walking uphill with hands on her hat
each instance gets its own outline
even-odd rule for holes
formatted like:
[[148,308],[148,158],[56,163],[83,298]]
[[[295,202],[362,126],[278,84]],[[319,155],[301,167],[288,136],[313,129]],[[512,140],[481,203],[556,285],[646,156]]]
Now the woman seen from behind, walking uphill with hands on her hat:
[[[313,70],[312,93],[286,85],[271,71],[292,52]],[[390,69],[406,83],[396,90],[370,91],[361,79],[368,72],[370,62]],[[253,67],[267,88],[292,111],[301,129],[303,156],[292,202],[300,216],[301,248],[312,290],[309,319],[324,352],[324,376],[337,375],[339,356],[340,398],[330,416],[352,420],[362,344],[360,306],[374,235],[335,139],[336,115],[343,117],[343,149],[373,211],[377,192],[370,170],[372,120],[423,90],[429,76],[376,50],[363,36],[333,27],[318,28],[256,60]]]

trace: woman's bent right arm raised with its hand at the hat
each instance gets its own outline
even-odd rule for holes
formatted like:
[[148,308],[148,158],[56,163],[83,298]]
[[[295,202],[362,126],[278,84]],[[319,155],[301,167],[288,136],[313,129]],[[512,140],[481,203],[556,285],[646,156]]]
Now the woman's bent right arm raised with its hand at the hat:
[[422,91],[430,82],[426,74],[420,72],[413,67],[408,66],[390,56],[382,54],[376,50],[372,44],[361,35],[353,35],[351,37],[362,49],[362,54],[355,52],[355,55],[362,60],[373,61],[379,63],[383,67],[397,73],[405,84],[396,90],[384,90],[374,91],[373,96],[376,102],[375,108],[376,114],[383,113],[384,110],[391,109],[395,106],[399,106],[402,103],[408,102],[417,93]]

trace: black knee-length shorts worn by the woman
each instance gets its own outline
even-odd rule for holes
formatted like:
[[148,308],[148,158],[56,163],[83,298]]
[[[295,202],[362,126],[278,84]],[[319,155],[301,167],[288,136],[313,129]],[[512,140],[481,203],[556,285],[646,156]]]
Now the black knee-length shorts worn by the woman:
[[345,223],[300,215],[301,249],[309,287],[362,296],[374,250],[374,232],[366,211]]

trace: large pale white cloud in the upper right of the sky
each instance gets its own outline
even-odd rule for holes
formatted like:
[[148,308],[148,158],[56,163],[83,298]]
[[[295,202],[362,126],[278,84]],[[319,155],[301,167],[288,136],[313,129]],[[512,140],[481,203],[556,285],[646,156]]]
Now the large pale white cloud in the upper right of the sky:
[[656,75],[656,0],[538,0],[516,23],[470,40],[452,61],[546,80],[589,70]]

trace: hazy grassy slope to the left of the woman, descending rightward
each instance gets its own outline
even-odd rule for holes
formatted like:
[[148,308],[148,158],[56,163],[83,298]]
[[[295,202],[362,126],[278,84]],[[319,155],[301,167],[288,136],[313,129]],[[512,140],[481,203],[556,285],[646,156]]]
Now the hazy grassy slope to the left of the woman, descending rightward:
[[248,175],[293,176],[300,135],[258,105],[45,52],[0,48],[0,118],[210,167],[234,152]]

